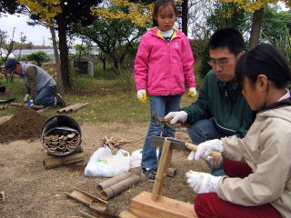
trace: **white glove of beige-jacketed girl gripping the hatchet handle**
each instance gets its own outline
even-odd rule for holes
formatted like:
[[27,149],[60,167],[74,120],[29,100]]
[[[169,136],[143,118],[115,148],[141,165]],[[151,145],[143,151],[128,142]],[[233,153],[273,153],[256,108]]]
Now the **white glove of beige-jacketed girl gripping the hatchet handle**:
[[212,157],[209,154],[212,151],[217,151],[220,153],[224,151],[224,146],[222,145],[221,140],[213,139],[213,140],[208,140],[202,144],[198,144],[197,151],[195,154],[195,160],[197,161],[200,158],[202,158],[207,161],[211,161]]

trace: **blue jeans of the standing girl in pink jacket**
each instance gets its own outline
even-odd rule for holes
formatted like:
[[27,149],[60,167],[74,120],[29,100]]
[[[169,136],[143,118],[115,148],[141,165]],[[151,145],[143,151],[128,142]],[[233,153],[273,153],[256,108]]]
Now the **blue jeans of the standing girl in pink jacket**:
[[[150,96],[151,113],[164,117],[169,112],[177,111],[181,102],[181,95],[153,95]],[[143,148],[142,168],[157,168],[156,148],[151,146],[153,136],[175,137],[175,130],[166,124],[156,125],[151,120],[146,134],[146,141]],[[160,149],[159,154],[161,154]]]

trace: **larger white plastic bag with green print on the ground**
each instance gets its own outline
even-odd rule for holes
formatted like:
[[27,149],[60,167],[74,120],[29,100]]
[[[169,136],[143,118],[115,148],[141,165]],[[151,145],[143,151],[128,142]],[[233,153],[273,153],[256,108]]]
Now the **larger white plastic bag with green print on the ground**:
[[85,175],[113,177],[127,172],[130,166],[130,154],[120,149],[117,154],[111,154],[108,147],[100,147],[90,157],[85,166]]

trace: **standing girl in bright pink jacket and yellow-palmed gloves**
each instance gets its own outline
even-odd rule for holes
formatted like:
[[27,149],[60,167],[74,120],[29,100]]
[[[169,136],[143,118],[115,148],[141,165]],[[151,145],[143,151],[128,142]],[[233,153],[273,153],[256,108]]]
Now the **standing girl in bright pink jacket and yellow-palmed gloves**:
[[[135,86],[137,98],[146,103],[149,95],[151,113],[164,117],[177,111],[186,87],[196,97],[194,58],[186,35],[174,29],[177,9],[174,0],[157,0],[154,6],[153,27],[142,36],[135,56]],[[175,137],[167,125],[151,122],[143,149],[142,174],[149,181],[156,179],[156,148],[151,146],[154,135]]]

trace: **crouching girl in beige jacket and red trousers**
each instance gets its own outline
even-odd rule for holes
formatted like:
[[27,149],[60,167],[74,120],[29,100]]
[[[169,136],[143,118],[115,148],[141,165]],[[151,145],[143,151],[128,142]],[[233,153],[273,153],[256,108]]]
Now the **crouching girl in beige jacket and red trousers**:
[[190,171],[198,217],[291,217],[291,81],[286,58],[273,45],[257,45],[236,63],[236,79],[256,120],[245,138],[225,137],[199,144],[195,159],[211,151],[252,169],[224,167],[226,176]]

